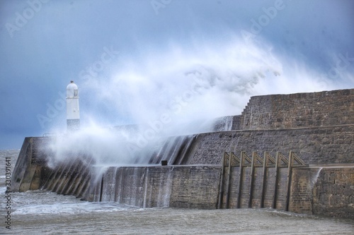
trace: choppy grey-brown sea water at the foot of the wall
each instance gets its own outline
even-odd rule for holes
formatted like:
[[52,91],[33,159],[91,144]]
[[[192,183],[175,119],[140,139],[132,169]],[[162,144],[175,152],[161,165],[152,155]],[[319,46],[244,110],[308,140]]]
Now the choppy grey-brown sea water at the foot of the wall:
[[[13,168],[18,153],[0,151],[0,234],[354,234],[353,219],[271,209],[137,208],[48,191],[10,193],[7,210],[5,160],[10,157]],[[11,229],[6,228],[8,211]]]

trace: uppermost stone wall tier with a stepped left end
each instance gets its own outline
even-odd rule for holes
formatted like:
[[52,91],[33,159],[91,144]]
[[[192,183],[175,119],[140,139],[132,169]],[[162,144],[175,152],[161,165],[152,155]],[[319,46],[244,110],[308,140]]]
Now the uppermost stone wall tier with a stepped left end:
[[354,89],[251,97],[232,130],[337,126],[354,123]]

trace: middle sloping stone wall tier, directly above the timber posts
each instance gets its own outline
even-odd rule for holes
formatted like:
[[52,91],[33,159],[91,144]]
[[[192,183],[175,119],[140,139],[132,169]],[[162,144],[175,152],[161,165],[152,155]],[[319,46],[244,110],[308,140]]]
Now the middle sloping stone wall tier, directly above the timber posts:
[[280,130],[224,131],[198,135],[185,164],[221,164],[224,152],[294,151],[307,164],[354,163],[354,125]]

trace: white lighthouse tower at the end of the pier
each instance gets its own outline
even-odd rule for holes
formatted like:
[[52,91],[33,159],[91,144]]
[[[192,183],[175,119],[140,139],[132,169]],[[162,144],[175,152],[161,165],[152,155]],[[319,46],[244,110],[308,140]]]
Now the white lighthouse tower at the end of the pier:
[[74,81],[67,85],[67,131],[77,131],[80,128],[79,90]]

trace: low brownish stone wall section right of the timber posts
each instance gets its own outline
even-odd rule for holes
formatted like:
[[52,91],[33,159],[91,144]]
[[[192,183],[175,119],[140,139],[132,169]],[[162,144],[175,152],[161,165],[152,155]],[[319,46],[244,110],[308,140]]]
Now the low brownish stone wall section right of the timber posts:
[[295,169],[290,211],[354,219],[354,164]]

